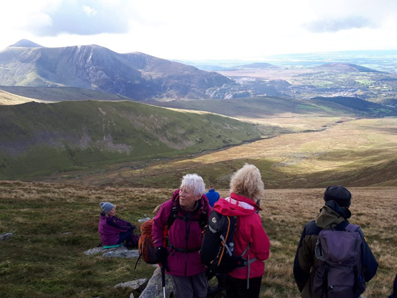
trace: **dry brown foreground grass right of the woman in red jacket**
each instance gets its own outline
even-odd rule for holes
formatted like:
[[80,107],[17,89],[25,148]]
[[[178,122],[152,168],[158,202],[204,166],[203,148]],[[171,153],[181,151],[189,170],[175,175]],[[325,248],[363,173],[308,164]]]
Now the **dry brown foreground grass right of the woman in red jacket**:
[[[397,188],[349,188],[352,224],[358,224],[379,262],[378,274],[367,284],[365,297],[387,297],[397,273]],[[263,293],[266,298],[298,298],[292,273],[296,246],[303,226],[323,206],[323,188],[265,190],[261,201],[263,226],[271,241],[265,261]],[[223,196],[227,191],[221,191]]]

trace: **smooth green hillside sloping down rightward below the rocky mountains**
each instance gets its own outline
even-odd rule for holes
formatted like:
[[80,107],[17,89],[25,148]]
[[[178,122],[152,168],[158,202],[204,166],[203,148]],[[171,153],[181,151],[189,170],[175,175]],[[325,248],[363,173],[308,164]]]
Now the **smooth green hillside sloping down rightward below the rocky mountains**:
[[132,101],[0,106],[0,179],[214,150],[259,139],[259,128]]

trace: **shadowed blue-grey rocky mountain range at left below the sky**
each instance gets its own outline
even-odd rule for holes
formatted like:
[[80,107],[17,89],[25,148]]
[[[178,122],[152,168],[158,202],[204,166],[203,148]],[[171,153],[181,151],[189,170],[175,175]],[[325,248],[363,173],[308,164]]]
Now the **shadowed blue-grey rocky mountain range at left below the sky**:
[[1,51],[0,66],[3,86],[88,88],[136,100],[210,98],[232,83],[216,72],[139,52],[119,54],[94,45],[43,48],[26,40]]

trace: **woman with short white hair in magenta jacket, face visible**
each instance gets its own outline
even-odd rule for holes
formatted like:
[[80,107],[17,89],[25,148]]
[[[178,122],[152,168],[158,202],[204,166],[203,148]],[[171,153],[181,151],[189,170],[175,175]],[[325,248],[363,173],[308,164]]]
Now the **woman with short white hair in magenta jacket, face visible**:
[[[208,203],[203,178],[196,174],[183,176],[172,199],[161,205],[153,219],[152,238],[156,257],[172,276],[176,298],[205,298],[207,279],[199,250],[201,231],[212,208]],[[170,214],[172,223],[169,221]],[[168,228],[167,228],[168,227]]]

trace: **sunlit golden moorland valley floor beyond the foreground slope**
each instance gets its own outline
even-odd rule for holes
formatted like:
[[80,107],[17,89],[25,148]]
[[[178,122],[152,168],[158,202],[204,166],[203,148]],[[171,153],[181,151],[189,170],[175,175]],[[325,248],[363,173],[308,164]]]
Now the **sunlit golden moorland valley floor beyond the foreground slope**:
[[[208,183],[226,188],[232,172],[245,162],[262,172],[267,188],[397,186],[397,119],[358,119],[340,122],[326,118],[323,130],[281,135],[189,158],[156,160],[139,168],[70,172],[50,181],[87,185],[176,187],[181,175],[197,172]],[[339,119],[340,120],[340,119]],[[279,126],[308,127],[305,119],[263,119]],[[120,165],[119,165],[120,166]]]

